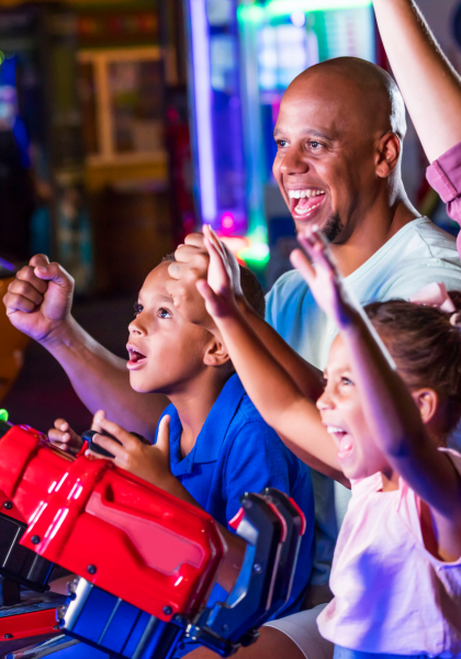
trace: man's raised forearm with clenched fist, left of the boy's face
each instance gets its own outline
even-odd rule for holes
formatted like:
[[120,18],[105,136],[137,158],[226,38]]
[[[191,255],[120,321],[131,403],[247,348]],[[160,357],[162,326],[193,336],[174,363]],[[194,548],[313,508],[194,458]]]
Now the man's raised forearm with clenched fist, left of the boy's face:
[[59,361],[90,412],[104,409],[114,422],[153,439],[168,400],[133,391],[126,361],[95,342],[71,316],[72,295],[70,275],[37,255],[18,272],[3,303],[14,327]]

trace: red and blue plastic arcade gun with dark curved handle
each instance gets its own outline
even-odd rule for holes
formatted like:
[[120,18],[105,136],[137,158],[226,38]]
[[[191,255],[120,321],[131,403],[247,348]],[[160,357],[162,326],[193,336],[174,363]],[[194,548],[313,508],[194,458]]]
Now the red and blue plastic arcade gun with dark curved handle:
[[117,659],[168,659],[181,638],[226,657],[254,643],[290,596],[305,521],[278,490],[241,496],[231,525],[246,543],[243,566],[227,600],[211,607],[226,545],[199,507],[109,460],[71,458],[37,431],[1,421],[0,490],[16,581],[45,590],[54,565],[76,574],[66,602],[56,608],[52,597],[49,610],[42,602],[43,615],[56,615],[53,627],[49,614],[38,629],[35,622],[27,628],[21,606],[16,613],[16,635],[63,635],[42,639],[47,656],[70,637]]

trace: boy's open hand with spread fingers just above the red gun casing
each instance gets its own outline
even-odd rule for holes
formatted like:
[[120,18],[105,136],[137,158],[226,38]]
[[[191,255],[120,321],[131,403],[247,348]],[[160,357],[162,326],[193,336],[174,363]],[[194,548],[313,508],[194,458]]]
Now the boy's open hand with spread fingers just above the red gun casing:
[[144,444],[116,423],[108,421],[104,412],[97,412],[93,428],[110,433],[119,439],[120,444],[111,437],[98,434],[93,436],[94,444],[109,450],[114,458],[104,458],[91,450],[87,450],[86,455],[104,460],[112,459],[117,467],[168,491],[171,482],[176,480],[170,469],[169,423],[170,417],[164,416],[158,429],[157,444],[149,445]]

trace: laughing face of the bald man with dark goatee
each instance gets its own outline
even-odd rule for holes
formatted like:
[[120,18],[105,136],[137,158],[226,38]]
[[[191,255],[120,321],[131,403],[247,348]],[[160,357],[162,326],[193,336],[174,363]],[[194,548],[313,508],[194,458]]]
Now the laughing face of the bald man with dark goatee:
[[286,90],[274,130],[273,175],[297,231],[315,223],[331,242],[346,242],[373,203],[376,146],[390,125],[389,102],[384,97],[380,105],[381,94],[372,91],[324,65]]

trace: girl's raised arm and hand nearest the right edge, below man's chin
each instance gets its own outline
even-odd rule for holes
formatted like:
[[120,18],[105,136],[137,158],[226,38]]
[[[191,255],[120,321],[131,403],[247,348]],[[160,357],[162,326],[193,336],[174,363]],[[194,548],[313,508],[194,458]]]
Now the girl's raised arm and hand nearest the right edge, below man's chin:
[[[429,505],[440,557],[457,560],[461,556],[461,478],[428,436],[407,386],[370,321],[358,305],[347,302],[341,278],[321,236],[307,234],[302,244],[316,269],[300,250],[292,260],[318,304],[329,315],[334,313],[350,356],[370,436],[389,465]],[[324,275],[322,286],[317,286],[321,271],[329,272],[329,278]],[[329,302],[333,298],[334,304]]]

